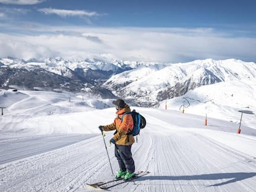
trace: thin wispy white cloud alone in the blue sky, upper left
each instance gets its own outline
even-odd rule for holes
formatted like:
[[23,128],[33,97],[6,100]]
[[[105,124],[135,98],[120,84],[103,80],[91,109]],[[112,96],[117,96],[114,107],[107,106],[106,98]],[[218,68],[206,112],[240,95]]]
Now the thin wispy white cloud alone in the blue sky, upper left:
[[96,12],[88,12],[85,10],[65,10],[65,9],[44,8],[44,9],[38,9],[38,11],[43,12],[47,15],[56,14],[61,17],[72,17],[72,16],[93,17],[98,15]]

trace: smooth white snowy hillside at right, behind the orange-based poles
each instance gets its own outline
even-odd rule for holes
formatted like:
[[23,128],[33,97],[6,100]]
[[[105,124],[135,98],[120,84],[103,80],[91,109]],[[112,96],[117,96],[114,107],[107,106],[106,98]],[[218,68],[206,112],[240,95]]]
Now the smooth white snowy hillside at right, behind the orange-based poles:
[[234,80],[206,85],[189,91],[187,94],[163,101],[161,109],[173,109],[216,119],[239,123],[239,111],[252,111],[254,115],[244,114],[242,125],[256,128],[256,78]]

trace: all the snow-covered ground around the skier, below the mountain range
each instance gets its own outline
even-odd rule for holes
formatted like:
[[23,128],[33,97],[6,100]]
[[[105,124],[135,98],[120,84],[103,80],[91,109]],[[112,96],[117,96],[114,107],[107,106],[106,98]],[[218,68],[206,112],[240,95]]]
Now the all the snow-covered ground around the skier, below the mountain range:
[[[150,173],[111,191],[255,191],[255,115],[244,114],[237,134],[241,114],[234,110],[249,106],[255,114],[255,93],[247,92],[255,84],[250,82],[233,97],[229,86],[244,81],[197,88],[186,95],[194,102],[189,100],[184,114],[179,111],[182,98],[169,100],[167,110],[165,102],[158,109],[131,106],[147,119],[132,146],[135,167]],[[206,90],[215,93],[208,93],[214,102],[197,102],[207,99]],[[83,99],[70,93],[0,90],[0,107],[6,107],[0,115],[0,191],[98,191],[86,183],[113,178],[98,126],[112,123],[115,109],[111,99]],[[113,131],[105,134],[116,172],[114,146],[108,144]]]

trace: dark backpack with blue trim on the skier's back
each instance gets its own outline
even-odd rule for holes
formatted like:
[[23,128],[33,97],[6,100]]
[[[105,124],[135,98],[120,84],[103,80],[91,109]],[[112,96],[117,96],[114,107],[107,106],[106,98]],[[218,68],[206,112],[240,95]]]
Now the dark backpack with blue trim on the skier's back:
[[130,131],[130,133],[127,133],[127,135],[133,135],[133,136],[139,135],[140,129],[142,129],[146,126],[145,117],[140,115],[139,112],[136,112],[135,109],[134,109],[131,112],[125,112],[122,115],[121,122],[122,122],[122,119],[124,119],[124,115],[126,115],[126,114],[131,114],[132,119],[134,120],[134,128]]

